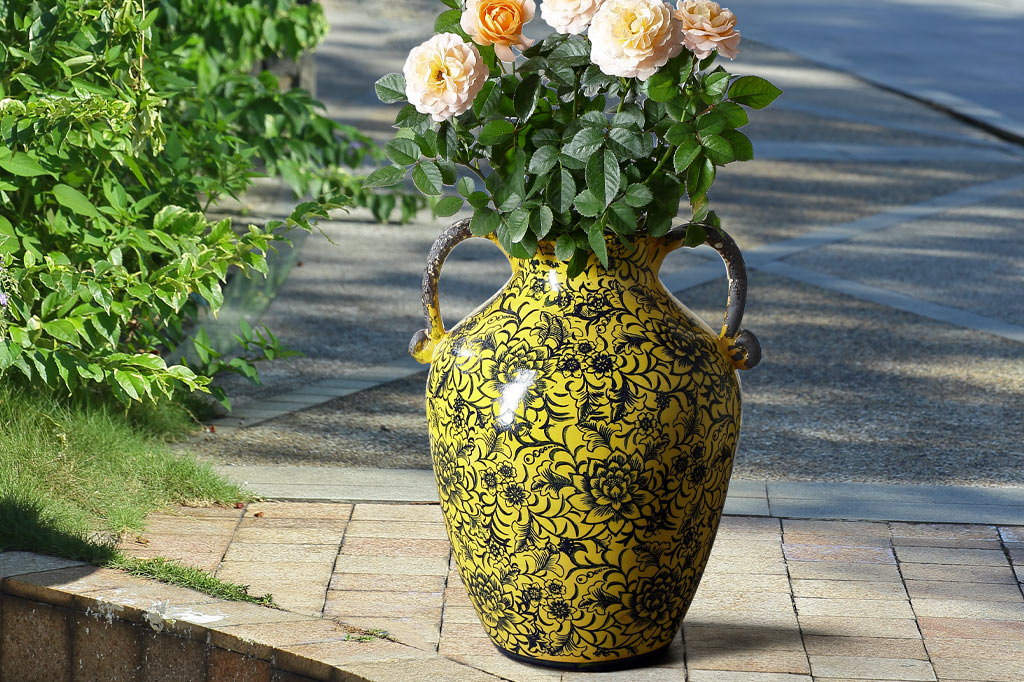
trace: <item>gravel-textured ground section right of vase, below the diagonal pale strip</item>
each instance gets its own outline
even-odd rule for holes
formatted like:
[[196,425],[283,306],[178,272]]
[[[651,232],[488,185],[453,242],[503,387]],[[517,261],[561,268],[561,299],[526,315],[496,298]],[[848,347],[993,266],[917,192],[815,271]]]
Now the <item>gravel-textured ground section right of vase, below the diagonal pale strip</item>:
[[[707,319],[724,285],[686,292]],[[742,478],[1024,485],[1021,344],[760,272]]]

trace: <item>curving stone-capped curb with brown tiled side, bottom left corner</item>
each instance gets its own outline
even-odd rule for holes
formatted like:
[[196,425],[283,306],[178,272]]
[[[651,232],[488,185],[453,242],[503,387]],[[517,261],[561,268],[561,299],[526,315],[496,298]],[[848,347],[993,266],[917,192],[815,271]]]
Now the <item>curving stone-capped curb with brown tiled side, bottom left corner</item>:
[[139,679],[157,679],[151,669],[208,682],[499,679],[328,619],[29,552],[0,553],[0,673],[11,680],[30,669],[39,679],[134,679],[133,662]]

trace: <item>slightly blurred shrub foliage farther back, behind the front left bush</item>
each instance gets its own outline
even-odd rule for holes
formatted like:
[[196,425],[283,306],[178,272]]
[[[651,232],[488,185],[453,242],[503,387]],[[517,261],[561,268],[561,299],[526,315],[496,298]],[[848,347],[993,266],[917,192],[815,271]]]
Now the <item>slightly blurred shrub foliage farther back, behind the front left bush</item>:
[[[195,87],[181,117],[186,128],[182,139],[201,139],[199,122],[207,129],[205,137],[220,143],[231,138],[227,147],[197,150],[201,154],[184,150],[185,157],[206,157],[214,164],[221,154],[247,158],[288,182],[296,196],[324,201],[345,197],[381,221],[395,210],[406,221],[426,206],[422,197],[404,191],[367,191],[352,169],[384,161],[381,150],[352,126],[321,115],[323,104],[305,90],[282,91],[269,72],[251,75],[254,66],[267,59],[299,59],[327,36],[319,3],[161,0],[156,6],[157,36],[182,58],[157,63],[156,54],[151,55],[150,76],[155,82],[166,79],[162,84],[169,90],[186,82]],[[236,178],[213,177],[214,190],[238,191],[224,184]]]

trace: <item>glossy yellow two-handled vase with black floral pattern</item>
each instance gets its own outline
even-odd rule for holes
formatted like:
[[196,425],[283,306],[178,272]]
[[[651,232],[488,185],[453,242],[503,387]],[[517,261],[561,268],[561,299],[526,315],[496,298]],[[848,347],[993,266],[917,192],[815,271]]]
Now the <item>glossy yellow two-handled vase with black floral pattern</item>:
[[730,275],[716,335],[657,278],[674,230],[608,242],[570,280],[551,244],[511,259],[504,289],[445,332],[437,278],[470,237],[456,223],[424,273],[427,418],[456,562],[498,648],[534,665],[641,665],[672,641],[703,572],[739,436],[735,369],[760,358],[739,331],[732,240],[708,228]]

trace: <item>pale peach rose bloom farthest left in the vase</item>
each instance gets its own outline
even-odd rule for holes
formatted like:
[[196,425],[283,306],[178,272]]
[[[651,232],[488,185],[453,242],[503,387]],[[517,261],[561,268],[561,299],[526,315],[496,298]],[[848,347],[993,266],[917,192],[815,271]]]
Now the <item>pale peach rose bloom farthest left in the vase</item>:
[[409,101],[434,121],[469,109],[488,76],[476,45],[454,33],[439,33],[414,47],[402,72]]

